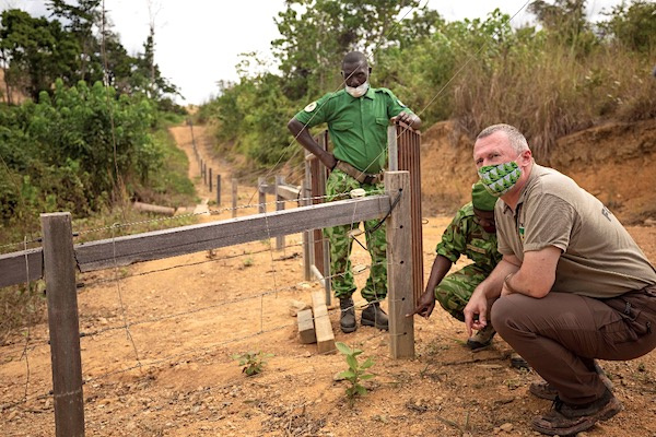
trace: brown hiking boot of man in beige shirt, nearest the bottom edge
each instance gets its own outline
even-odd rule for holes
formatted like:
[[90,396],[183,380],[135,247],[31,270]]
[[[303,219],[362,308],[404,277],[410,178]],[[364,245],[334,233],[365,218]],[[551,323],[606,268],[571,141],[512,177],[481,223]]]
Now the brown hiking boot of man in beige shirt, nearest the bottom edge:
[[542,416],[534,417],[531,427],[549,436],[573,436],[591,428],[599,421],[609,420],[620,411],[622,403],[610,390],[585,405],[570,405],[557,397],[553,409]]

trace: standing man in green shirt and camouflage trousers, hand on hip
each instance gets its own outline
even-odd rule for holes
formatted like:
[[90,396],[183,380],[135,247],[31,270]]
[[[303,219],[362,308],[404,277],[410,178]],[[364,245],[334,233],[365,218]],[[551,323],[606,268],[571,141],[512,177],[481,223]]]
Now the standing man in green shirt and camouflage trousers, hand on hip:
[[[383,189],[383,169],[387,162],[387,126],[402,121],[419,129],[421,120],[387,88],[373,88],[368,76],[372,69],[359,51],[347,54],[341,74],[344,88],[328,93],[311,103],[294,116],[288,128],[308,152],[331,170],[326,182],[328,201],[343,200],[353,189],[379,193]],[[333,144],[332,153],[323,150],[308,129],[326,122]],[[387,315],[379,302],[387,296],[387,244],[385,227],[377,221],[364,223],[372,268],[366,285],[361,291],[370,305],[362,311],[361,322],[388,330]],[[326,228],[330,241],[330,271],[332,290],[339,298],[343,332],[353,332],[355,310],[352,295],[355,282],[351,271],[352,239],[349,232],[359,223]]]

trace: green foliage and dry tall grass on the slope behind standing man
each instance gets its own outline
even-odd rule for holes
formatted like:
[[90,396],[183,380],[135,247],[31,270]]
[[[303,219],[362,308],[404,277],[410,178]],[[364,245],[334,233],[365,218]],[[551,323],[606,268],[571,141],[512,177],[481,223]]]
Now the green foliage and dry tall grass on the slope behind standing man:
[[215,121],[223,146],[248,155],[249,165],[300,163],[286,121],[339,90],[340,61],[350,50],[367,54],[373,86],[391,88],[424,126],[456,119],[476,134],[509,122],[538,156],[574,130],[656,117],[653,2],[622,3],[591,23],[585,0],[535,1],[535,24],[523,26],[499,11],[446,22],[418,3],[286,1],[277,19],[282,38],[272,43],[279,72],[244,70],[201,117]]

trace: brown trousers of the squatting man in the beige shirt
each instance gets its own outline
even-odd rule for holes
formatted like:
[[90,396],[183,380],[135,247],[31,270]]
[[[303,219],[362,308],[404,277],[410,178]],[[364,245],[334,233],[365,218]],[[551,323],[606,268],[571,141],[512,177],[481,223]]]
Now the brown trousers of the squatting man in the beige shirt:
[[503,340],[569,404],[604,394],[595,358],[633,359],[656,347],[656,285],[610,299],[514,294],[496,299],[491,315]]

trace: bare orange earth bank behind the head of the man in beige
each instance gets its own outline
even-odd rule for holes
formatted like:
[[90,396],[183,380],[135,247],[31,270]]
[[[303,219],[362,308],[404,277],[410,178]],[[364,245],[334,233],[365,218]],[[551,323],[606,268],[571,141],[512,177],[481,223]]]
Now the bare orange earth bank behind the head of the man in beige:
[[[469,199],[477,180],[473,139],[450,121],[422,134],[421,172],[424,215],[447,213]],[[563,137],[547,161],[595,194],[626,224],[656,218],[656,119],[612,122]]]

